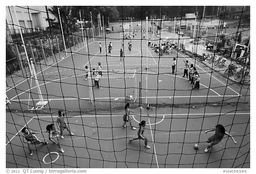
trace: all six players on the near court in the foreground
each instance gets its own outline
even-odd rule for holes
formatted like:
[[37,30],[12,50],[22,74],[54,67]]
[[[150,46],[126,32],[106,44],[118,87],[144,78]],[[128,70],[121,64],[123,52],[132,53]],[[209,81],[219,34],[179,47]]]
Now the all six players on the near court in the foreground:
[[[132,117],[130,116],[130,112],[134,112],[134,111],[132,111],[130,109],[130,103],[125,104],[124,110],[125,110],[124,111],[124,116],[123,116],[124,124],[123,124],[122,128],[125,128],[126,123],[129,122],[131,128],[133,130],[136,130],[136,128],[134,126],[132,126]],[[147,110],[147,116],[149,116],[148,112],[149,111]],[[58,114],[59,114],[59,116],[56,120],[58,130],[56,130],[54,124],[52,123],[52,124],[48,124],[46,126],[46,132],[48,132],[48,139],[53,144],[56,144],[58,146],[60,152],[64,153],[63,148],[60,147],[58,137],[60,137],[60,139],[64,139],[63,132],[64,132],[65,129],[68,130],[70,135],[74,135],[74,134],[70,131],[69,126],[68,126],[68,124],[65,120],[65,117],[64,117],[65,115],[62,112],[62,110],[59,110]],[[66,117],[72,117],[72,116],[66,116]],[[145,143],[144,147],[149,149],[150,147],[148,146],[148,138],[144,136],[145,126],[148,123],[149,123],[149,120],[148,120],[148,122],[146,122],[145,120],[142,120],[139,123],[139,130],[137,132],[138,137],[133,138],[133,139],[129,139],[129,142],[132,142],[136,139],[142,139],[142,140],[144,140],[144,143]],[[220,141],[224,138],[224,135],[230,136],[231,139],[233,140],[233,142],[236,144],[236,141],[233,138],[233,136],[231,134],[229,134],[228,132],[226,132],[224,126],[221,125],[221,124],[217,124],[214,129],[207,130],[207,131],[205,131],[205,133],[208,133],[209,131],[215,131],[215,134],[210,136],[207,139],[206,142],[209,143],[209,144],[205,148],[204,152],[208,152],[210,147],[220,143]],[[35,135],[37,133],[42,133],[43,131],[32,131],[32,130],[29,130],[28,128],[24,127],[22,129],[22,132],[24,133],[23,134],[23,142],[28,144],[28,150],[30,151],[30,155],[33,155],[32,145],[36,145],[36,144],[45,144],[46,145],[46,144],[48,144],[47,141],[40,141]]]

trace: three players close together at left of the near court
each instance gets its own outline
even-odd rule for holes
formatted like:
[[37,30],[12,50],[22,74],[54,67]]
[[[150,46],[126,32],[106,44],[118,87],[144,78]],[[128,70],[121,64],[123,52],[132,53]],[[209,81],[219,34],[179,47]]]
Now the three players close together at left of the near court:
[[[59,116],[56,120],[58,130],[55,129],[54,124],[52,123],[46,126],[46,132],[48,132],[48,139],[53,144],[56,144],[58,146],[60,152],[64,153],[63,148],[60,147],[59,139],[57,137],[60,137],[60,139],[64,139],[63,132],[65,129],[68,130],[70,135],[74,135],[74,134],[70,131],[69,126],[65,120],[65,114],[62,112],[62,110],[59,110],[58,114]],[[72,117],[72,116],[66,116],[66,117]],[[33,155],[32,145],[48,144],[47,141],[40,141],[35,135],[37,133],[43,133],[43,131],[32,131],[24,127],[22,128],[21,132],[23,133],[23,142],[28,144],[28,151],[30,152],[30,155]]]

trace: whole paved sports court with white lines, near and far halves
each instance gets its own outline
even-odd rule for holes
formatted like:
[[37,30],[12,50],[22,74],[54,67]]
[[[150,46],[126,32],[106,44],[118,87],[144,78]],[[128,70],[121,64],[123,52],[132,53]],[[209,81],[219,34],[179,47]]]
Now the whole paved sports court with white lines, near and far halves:
[[[6,90],[6,168],[250,168],[248,90],[183,54],[179,47],[170,54],[156,54],[148,41],[161,45],[167,40],[142,32],[146,22],[141,23],[131,39],[124,39],[124,32],[101,34],[85,46],[71,47],[67,56],[46,68],[31,65],[36,74]],[[183,77],[185,61],[196,67],[200,89],[192,90]],[[99,62],[102,70],[97,70]],[[98,71],[102,71],[100,89],[93,77]],[[127,102],[134,111],[130,116],[136,130],[128,123],[122,128]],[[64,139],[57,138],[64,153],[46,132],[48,124],[56,125],[58,110],[68,116],[65,119],[74,133],[65,130]],[[142,139],[129,142],[137,137],[142,120],[149,122],[144,135],[150,149]],[[214,132],[205,131],[217,124],[224,125],[237,143],[225,135],[206,153],[206,140]],[[23,143],[23,127],[41,131],[37,138],[48,141],[33,145],[32,156]]]

